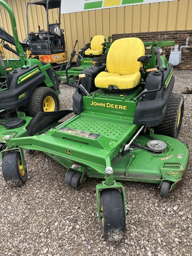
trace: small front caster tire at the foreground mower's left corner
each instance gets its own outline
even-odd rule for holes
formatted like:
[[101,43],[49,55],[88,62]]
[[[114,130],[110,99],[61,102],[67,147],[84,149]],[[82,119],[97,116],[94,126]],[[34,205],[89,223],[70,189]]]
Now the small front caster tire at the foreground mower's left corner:
[[27,170],[20,169],[21,165],[21,156],[18,151],[7,153],[2,159],[2,174],[9,187],[19,187],[27,180]]

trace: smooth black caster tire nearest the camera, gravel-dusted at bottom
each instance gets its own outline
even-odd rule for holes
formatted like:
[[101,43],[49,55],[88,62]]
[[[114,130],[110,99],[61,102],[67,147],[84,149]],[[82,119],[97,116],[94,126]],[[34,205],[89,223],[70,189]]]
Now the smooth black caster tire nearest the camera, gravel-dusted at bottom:
[[126,231],[126,216],[121,193],[116,188],[106,188],[100,195],[101,232],[104,239],[117,241]]

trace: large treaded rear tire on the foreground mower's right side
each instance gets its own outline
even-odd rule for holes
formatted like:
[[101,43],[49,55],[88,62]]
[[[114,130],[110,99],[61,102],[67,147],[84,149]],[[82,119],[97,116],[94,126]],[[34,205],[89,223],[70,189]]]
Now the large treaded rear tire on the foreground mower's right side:
[[184,113],[183,95],[172,92],[169,98],[168,107],[164,120],[161,124],[154,127],[154,132],[177,139],[180,133]]

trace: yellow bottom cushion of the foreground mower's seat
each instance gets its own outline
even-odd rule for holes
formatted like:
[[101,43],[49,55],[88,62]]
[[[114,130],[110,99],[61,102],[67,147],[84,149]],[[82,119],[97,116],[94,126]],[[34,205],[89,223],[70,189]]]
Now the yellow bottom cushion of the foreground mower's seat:
[[107,89],[110,85],[119,89],[131,89],[140,82],[140,72],[129,75],[120,75],[119,73],[101,72],[95,78],[95,86]]

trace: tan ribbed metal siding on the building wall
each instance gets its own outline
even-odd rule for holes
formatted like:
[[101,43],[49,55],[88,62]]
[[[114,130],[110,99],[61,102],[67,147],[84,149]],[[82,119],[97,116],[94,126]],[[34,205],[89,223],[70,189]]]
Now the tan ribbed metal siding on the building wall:
[[[28,1],[33,2],[34,0],[17,0],[17,2],[7,0],[10,7],[14,9],[20,41],[27,37],[25,9]],[[0,12],[1,26],[9,34],[12,34],[11,21],[7,13],[4,8],[1,8]],[[42,11],[37,12],[35,8],[33,12],[29,13],[29,16],[30,31],[37,30],[40,23],[43,23],[41,28],[46,30],[46,19],[43,17]],[[61,28],[65,29],[66,50],[70,54],[75,43],[74,40],[78,39],[77,46],[82,48],[85,43],[90,41],[90,37],[96,34],[104,34],[105,37],[108,37],[116,33],[191,30],[191,16],[192,1],[180,0],[62,14]],[[55,23],[54,17],[55,11],[52,11],[50,21],[53,23]]]

